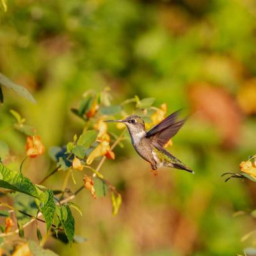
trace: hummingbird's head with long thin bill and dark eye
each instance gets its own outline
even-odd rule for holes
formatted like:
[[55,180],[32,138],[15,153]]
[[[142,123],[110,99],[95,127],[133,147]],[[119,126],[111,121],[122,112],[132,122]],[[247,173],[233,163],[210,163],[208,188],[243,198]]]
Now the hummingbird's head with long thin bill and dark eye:
[[125,124],[131,133],[131,135],[135,135],[138,132],[145,132],[145,124],[143,119],[140,116],[132,115],[127,116],[124,120],[106,120],[104,122],[121,122]]

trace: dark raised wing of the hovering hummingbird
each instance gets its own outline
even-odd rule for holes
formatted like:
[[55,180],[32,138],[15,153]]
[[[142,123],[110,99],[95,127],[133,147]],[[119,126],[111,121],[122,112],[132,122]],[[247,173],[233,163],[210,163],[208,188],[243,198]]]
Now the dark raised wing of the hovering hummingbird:
[[162,122],[147,132],[146,137],[156,146],[163,147],[182,127],[186,118],[178,120],[180,110],[167,116]]

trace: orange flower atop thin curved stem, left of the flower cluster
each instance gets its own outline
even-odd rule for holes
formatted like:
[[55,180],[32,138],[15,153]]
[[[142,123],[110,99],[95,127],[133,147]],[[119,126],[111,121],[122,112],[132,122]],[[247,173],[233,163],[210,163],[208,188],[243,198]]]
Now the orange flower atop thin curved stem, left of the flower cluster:
[[45,152],[44,144],[41,141],[40,136],[28,136],[26,143],[26,154],[29,157],[36,157],[42,155]]

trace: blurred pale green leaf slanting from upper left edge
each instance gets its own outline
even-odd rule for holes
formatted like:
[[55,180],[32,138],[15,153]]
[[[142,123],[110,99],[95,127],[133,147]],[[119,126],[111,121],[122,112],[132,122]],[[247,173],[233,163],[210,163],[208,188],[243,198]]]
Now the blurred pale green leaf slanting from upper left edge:
[[[1,0],[1,4],[3,5],[3,0]],[[0,84],[5,86],[8,89],[12,89],[14,92],[18,93],[21,97],[24,97],[25,99],[29,100],[32,103],[36,104],[36,100],[33,98],[31,93],[28,92],[26,88],[23,86],[20,86],[19,84],[15,84],[8,77],[4,76],[0,73]]]

